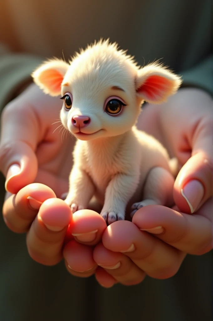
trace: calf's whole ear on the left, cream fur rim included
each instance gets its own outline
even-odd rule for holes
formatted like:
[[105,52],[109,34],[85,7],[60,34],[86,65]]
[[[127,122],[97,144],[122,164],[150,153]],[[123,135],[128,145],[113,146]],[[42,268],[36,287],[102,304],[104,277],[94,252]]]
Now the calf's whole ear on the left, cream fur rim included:
[[61,93],[61,83],[67,72],[69,64],[60,59],[52,59],[44,62],[33,73],[34,82],[51,96],[58,96]]

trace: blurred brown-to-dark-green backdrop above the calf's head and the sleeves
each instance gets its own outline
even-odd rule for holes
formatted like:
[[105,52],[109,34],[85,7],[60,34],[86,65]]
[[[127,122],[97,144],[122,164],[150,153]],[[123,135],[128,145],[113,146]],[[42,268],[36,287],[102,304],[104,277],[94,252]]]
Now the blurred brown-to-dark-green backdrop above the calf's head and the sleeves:
[[211,15],[209,0],[1,0],[0,42],[14,53],[61,57],[63,51],[68,59],[110,38],[141,65],[162,59],[179,71],[210,51]]

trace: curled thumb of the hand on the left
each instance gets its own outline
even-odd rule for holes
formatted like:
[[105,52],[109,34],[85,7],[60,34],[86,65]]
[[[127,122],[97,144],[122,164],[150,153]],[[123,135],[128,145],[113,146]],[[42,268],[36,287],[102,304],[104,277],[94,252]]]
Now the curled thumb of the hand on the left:
[[38,162],[27,143],[12,142],[0,149],[0,169],[6,177],[5,189],[17,194],[21,188],[34,182]]

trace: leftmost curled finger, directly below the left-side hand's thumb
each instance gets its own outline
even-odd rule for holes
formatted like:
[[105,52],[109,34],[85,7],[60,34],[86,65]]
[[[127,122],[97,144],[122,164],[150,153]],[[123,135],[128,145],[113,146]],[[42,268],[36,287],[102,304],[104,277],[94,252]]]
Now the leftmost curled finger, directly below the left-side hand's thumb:
[[9,196],[3,205],[3,218],[13,232],[29,230],[41,204],[55,193],[46,185],[33,183],[23,187],[16,195]]

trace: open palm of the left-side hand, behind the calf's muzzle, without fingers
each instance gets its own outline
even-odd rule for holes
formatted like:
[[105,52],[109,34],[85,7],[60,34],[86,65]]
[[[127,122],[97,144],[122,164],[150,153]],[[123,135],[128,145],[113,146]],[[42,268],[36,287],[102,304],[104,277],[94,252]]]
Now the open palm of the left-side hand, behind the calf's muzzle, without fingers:
[[32,84],[12,104],[12,113],[22,124],[19,135],[24,137],[28,146],[33,147],[38,160],[38,172],[36,165],[31,163],[31,171],[35,172],[35,175],[37,173],[34,182],[49,186],[56,196],[60,197],[68,190],[75,142],[74,138],[65,132],[59,120],[61,100],[59,97],[45,95]]

